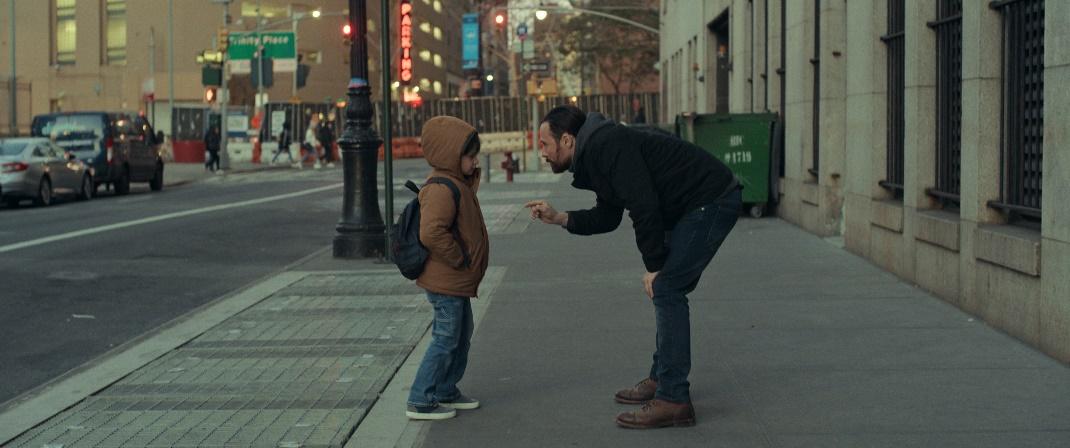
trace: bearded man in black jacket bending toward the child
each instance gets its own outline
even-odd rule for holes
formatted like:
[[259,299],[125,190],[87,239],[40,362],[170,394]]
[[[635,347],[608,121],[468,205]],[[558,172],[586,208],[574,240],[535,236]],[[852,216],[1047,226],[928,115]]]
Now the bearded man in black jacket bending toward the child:
[[[593,235],[621,225],[625,210],[646,273],[646,296],[657,326],[654,362],[635,387],[616,392],[620,403],[643,404],[623,413],[626,428],[694,424],[691,406],[691,327],[687,294],[735,226],[742,206],[739,184],[724,164],[703,149],[560,106],[539,124],[539,152],[553,172],[572,172],[572,186],[592,190],[595,206],[557,212],[531,201],[532,219]],[[670,233],[671,232],[671,233]]]

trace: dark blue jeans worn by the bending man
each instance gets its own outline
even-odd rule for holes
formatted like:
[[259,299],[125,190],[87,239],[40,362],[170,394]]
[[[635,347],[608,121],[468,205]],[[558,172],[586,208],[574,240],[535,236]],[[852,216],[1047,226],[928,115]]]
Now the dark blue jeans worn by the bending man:
[[654,279],[654,314],[657,351],[651,379],[658,382],[655,397],[674,403],[691,400],[691,316],[687,294],[699,284],[702,272],[735,227],[743,195],[732,190],[716,202],[692,210],[681,218],[669,236],[669,259]]

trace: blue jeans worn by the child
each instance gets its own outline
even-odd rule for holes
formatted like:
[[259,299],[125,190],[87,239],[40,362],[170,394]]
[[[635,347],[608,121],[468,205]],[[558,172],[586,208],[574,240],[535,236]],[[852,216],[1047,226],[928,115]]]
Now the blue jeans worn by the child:
[[434,406],[440,401],[454,401],[460,396],[457,382],[464,376],[468,352],[472,345],[472,302],[468,297],[427,292],[434,306],[431,344],[416,371],[409,391],[408,404]]

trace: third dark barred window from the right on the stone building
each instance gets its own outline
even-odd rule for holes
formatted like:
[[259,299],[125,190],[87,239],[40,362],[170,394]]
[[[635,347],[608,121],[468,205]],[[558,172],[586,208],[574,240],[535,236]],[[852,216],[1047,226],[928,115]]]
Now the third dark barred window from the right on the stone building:
[[905,34],[906,5],[903,0],[888,0],[888,34],[881,36],[888,49],[888,158],[885,180],[881,186],[896,198],[903,198],[903,138],[904,138],[904,78],[903,61],[906,57]]

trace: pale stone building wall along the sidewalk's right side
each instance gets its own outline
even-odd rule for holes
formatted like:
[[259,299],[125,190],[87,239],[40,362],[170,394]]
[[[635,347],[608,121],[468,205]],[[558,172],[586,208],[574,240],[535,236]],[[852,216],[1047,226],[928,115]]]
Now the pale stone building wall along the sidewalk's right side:
[[[983,319],[1007,334],[1070,361],[1070,2],[1046,0],[1043,61],[1042,218],[1013,221],[989,205],[1002,197],[1004,82],[1003,17],[988,2],[965,1],[962,16],[962,156],[960,204],[945,206],[927,190],[936,186],[936,38],[927,25],[937,0],[906,0],[904,61],[904,189],[886,180],[888,135],[888,31],[886,0],[821,1],[819,164],[813,164],[814,1],[786,1],[786,91],[767,87],[769,110],[784,101],[784,176],[777,213],[819,235],[841,235],[845,248],[904,280]],[[716,92],[688,108],[687,74],[677,56],[687,40],[729,7],[732,22],[732,112],[765,107],[764,47],[779,50],[779,0],[667,0],[662,27],[662,94],[671,113],[713,109]],[[763,9],[768,9],[765,22]],[[696,11],[703,11],[700,15]],[[751,26],[750,14],[755,14]],[[740,17],[742,16],[742,17]],[[699,18],[701,17],[701,18]],[[762,28],[768,28],[768,40]],[[742,35],[740,35],[742,34]],[[700,41],[702,41],[700,38]],[[709,64],[708,53],[700,66]],[[747,61],[740,67],[740,61]],[[771,69],[770,69],[771,68]],[[776,79],[776,74],[770,80]],[[684,87],[684,89],[682,89]],[[815,168],[815,169],[814,169]],[[813,170],[813,172],[811,171]]]

